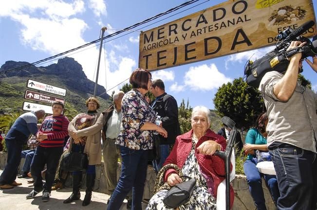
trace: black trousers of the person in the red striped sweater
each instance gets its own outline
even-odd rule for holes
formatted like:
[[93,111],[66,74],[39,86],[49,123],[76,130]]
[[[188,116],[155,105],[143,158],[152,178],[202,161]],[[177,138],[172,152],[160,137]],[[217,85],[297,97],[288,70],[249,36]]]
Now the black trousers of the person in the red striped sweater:
[[[31,163],[31,174],[34,179],[34,190],[39,192],[51,192],[58,166],[59,157],[63,153],[63,147],[37,146]],[[42,183],[42,170],[46,163],[45,184]]]

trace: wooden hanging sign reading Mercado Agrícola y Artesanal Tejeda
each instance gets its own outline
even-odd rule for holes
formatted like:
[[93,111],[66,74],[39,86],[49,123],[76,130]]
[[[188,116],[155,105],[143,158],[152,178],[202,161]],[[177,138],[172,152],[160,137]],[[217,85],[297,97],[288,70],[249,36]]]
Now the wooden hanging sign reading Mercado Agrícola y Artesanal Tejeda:
[[[140,34],[139,67],[158,70],[274,45],[313,20],[312,0],[229,0]],[[311,37],[316,25],[303,35]]]

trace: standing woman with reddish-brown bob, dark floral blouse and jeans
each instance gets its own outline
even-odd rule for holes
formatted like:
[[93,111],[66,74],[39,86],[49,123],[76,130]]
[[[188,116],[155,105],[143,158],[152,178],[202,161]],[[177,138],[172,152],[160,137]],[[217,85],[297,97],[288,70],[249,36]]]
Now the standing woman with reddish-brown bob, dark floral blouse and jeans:
[[148,70],[136,69],[130,77],[132,90],[122,99],[121,132],[115,141],[120,145],[121,175],[112,193],[108,210],[119,210],[132,189],[132,209],[142,209],[144,183],[148,168],[148,150],[153,148],[152,135],[156,131],[167,137],[167,131],[156,125],[155,113],[146,101],[145,94],[152,85]]

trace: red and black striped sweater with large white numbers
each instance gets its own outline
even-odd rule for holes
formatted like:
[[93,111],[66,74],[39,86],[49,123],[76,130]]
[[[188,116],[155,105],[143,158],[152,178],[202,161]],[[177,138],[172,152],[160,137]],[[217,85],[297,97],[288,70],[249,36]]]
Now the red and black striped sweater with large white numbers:
[[68,136],[69,120],[64,115],[48,116],[43,120],[38,134],[47,134],[47,139],[39,143],[41,147],[63,147]]

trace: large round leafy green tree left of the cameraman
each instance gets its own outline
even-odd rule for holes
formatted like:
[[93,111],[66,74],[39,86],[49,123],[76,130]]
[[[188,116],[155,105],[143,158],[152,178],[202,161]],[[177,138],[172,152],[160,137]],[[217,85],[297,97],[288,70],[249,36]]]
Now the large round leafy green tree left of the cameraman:
[[249,87],[241,77],[220,87],[213,102],[219,116],[230,117],[239,129],[251,127],[265,110],[260,92]]

